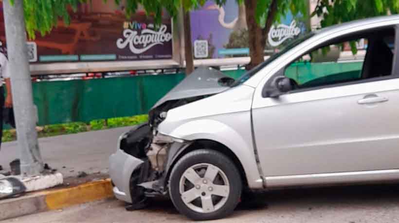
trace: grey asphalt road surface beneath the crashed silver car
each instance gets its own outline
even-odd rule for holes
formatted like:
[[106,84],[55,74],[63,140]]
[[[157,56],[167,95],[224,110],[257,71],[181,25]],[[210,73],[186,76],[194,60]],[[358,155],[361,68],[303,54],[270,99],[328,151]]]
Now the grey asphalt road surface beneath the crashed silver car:
[[[356,186],[272,191],[241,203],[217,223],[396,223],[398,186]],[[0,223],[175,223],[190,222],[170,201],[156,201],[139,211],[106,200],[10,219]]]

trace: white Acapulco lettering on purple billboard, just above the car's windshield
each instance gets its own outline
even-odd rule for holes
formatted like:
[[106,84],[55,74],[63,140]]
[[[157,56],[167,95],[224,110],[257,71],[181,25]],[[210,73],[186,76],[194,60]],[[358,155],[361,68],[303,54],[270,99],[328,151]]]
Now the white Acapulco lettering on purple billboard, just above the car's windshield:
[[292,20],[290,26],[279,24],[270,28],[268,34],[268,41],[272,47],[277,47],[287,39],[293,38],[301,32],[301,29],[296,26],[296,21]]

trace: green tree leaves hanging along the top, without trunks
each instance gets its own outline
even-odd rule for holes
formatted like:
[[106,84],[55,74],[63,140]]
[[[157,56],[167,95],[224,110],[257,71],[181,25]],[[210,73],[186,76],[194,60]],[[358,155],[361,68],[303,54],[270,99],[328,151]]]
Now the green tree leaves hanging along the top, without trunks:
[[[10,0],[14,2],[14,0]],[[64,23],[70,23],[69,10],[76,10],[79,3],[87,0],[23,0],[26,30],[30,38],[35,38],[35,32],[42,35],[50,32],[57,25],[58,18],[62,17]],[[106,2],[107,0],[104,0]],[[114,0],[119,4],[121,0]],[[226,0],[214,0],[218,5],[224,5]],[[252,0],[236,0],[238,4]],[[206,0],[126,0],[126,15],[133,15],[142,5],[147,15],[154,16],[156,23],[161,23],[163,9],[174,18],[177,17],[181,7],[187,12],[202,6]],[[272,18],[280,22],[280,18],[290,10],[293,15],[301,13],[308,15],[308,1],[306,0],[256,0],[254,16],[256,23],[265,28],[268,15],[275,11]],[[274,10],[272,2],[277,2]],[[323,16],[321,26],[326,27],[341,22],[351,21],[371,16],[397,14],[399,0],[318,0],[318,5],[311,16]],[[248,16],[248,15],[247,15]],[[269,27],[266,27],[268,29]],[[267,33],[268,30],[266,30]],[[250,35],[252,33],[250,32]],[[355,43],[351,43],[354,46]]]

